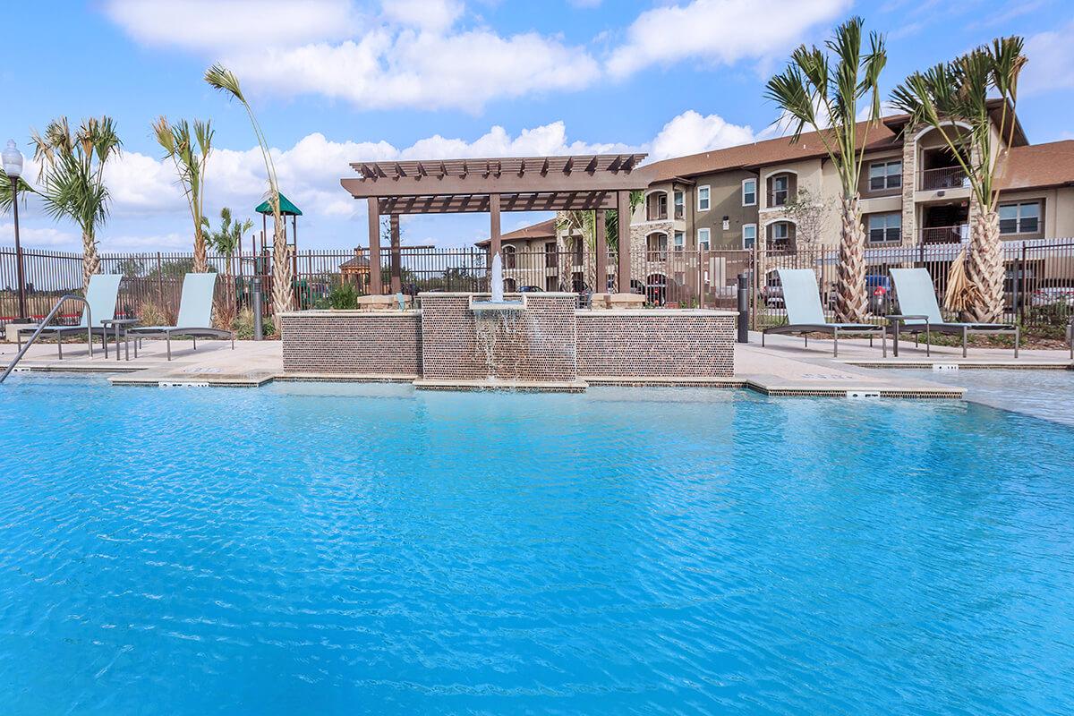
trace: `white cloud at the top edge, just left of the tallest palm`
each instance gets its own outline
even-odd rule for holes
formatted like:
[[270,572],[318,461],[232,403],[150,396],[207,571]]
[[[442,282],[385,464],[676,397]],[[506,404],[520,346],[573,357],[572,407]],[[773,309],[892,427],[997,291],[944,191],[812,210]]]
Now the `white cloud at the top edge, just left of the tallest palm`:
[[612,76],[625,77],[652,64],[697,58],[712,64],[787,55],[803,33],[830,23],[850,0],[798,0],[769,3],[758,15],[755,0],[693,0],[641,13],[626,30],[625,42],[607,63]]

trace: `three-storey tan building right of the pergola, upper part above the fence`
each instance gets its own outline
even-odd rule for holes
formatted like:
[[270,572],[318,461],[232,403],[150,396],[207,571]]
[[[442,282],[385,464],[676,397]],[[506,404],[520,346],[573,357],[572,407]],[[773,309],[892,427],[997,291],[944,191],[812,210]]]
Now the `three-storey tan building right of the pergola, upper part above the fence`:
[[[1008,152],[999,180],[1003,238],[1074,236],[1074,141],[1030,145],[1017,119],[1007,114],[1010,123],[1001,128],[1001,116],[997,100],[992,144]],[[969,235],[977,210],[966,174],[935,130],[908,131],[908,120],[897,115],[858,125],[867,242],[958,243]],[[779,137],[649,169],[656,179],[634,216],[638,249],[664,242],[687,249],[746,249],[759,238],[763,248],[780,251],[839,242],[840,181],[816,133],[803,133],[795,144]],[[664,209],[669,202],[672,215]]]

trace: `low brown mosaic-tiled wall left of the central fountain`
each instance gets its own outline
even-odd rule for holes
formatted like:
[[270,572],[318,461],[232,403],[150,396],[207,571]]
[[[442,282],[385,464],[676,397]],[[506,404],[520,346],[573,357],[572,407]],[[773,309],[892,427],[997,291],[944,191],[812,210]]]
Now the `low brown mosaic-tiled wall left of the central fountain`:
[[302,311],[279,321],[286,372],[421,375],[418,311]]

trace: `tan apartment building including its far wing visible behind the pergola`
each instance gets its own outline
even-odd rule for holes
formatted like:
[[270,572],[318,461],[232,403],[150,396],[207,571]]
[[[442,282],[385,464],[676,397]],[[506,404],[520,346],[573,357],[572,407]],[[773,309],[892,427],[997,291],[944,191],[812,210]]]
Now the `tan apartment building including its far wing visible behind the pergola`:
[[[992,144],[1008,152],[999,178],[1002,238],[1074,237],[1074,141],[1031,145],[1010,113],[1000,127],[999,101],[991,109]],[[958,244],[969,237],[978,210],[943,138],[935,130],[908,130],[908,120],[896,115],[857,128],[859,149],[865,147],[859,190],[867,250]],[[794,144],[784,136],[667,159],[647,171],[653,180],[632,217],[632,284],[654,301],[671,286],[685,293],[702,284],[726,289],[739,271],[735,253],[755,246],[785,252],[839,243],[840,181],[816,133],[803,133]],[[599,286],[581,236],[562,234],[554,220],[505,234],[508,286]],[[523,266],[510,255],[546,250],[540,272],[532,258]],[[679,260],[677,251],[683,252]]]

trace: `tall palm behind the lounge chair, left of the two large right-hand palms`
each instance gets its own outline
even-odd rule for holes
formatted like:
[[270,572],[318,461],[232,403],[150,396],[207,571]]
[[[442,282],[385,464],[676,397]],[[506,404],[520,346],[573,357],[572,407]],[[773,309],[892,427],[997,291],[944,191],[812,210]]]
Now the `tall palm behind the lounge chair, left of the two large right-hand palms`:
[[[840,321],[865,320],[866,233],[861,227],[858,177],[865,157],[869,127],[880,119],[880,73],[887,63],[884,38],[869,34],[869,52],[862,54],[865,20],[852,17],[836,29],[826,44],[828,53],[801,45],[790,56],[783,73],[768,81],[767,96],[790,118],[797,142],[809,126],[817,133],[839,174],[842,225],[836,280],[836,315]],[[834,60],[834,65],[831,64]],[[865,99],[866,121],[858,136],[858,104]]]

